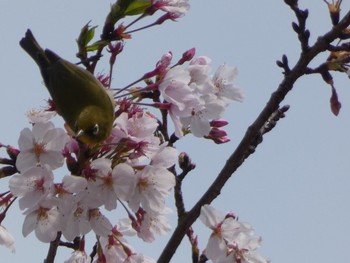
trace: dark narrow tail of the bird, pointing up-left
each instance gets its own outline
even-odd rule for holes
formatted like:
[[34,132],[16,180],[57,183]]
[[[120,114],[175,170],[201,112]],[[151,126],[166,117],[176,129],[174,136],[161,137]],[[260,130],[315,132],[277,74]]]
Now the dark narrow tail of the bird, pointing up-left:
[[24,38],[21,39],[19,44],[34,59],[41,70],[51,65],[51,62],[46,56],[45,51],[36,41],[30,29],[27,30]]

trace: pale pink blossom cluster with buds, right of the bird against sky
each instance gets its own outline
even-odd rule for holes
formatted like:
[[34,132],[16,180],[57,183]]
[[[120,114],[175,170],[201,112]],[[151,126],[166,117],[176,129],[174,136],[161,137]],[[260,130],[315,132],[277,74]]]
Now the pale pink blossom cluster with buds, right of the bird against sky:
[[[211,60],[193,56],[194,49],[191,49],[177,64],[170,66],[172,54],[163,55],[156,70],[147,74],[157,76],[148,90],[159,92],[161,103],[155,105],[167,111],[177,138],[190,132],[216,143],[228,142],[226,132],[220,129],[228,122],[221,118],[232,101],[243,100],[241,90],[233,84],[237,70],[221,65],[212,75]],[[190,60],[187,68],[181,66],[185,58]]]

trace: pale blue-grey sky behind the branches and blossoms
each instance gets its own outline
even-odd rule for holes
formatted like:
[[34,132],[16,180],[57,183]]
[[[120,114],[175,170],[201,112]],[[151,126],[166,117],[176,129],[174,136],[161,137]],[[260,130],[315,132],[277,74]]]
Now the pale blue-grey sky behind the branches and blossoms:
[[[102,25],[110,3],[1,1],[0,142],[16,146],[20,131],[28,127],[25,112],[45,105],[48,98],[35,63],[18,45],[26,29],[33,31],[43,47],[76,61],[75,39],[80,28],[89,20],[92,25]],[[163,53],[170,50],[179,58],[192,47],[196,47],[197,55],[212,58],[214,68],[223,63],[238,68],[236,83],[246,99],[233,104],[225,116],[230,121],[227,131],[231,142],[218,146],[188,136],[177,145],[197,164],[184,182],[188,208],[215,178],[282,80],[275,61],[286,54],[292,66],[300,53],[290,26],[295,17],[282,0],[193,0],[191,5],[190,12],[177,23],[134,34],[114,72],[114,86],[123,86],[152,69]],[[331,28],[327,6],[322,0],[301,0],[300,6],[309,8],[307,27],[313,43]],[[350,3],[345,0],[344,13],[348,9]],[[99,70],[106,72],[107,64],[104,65],[106,68]],[[291,105],[287,117],[267,134],[213,203],[223,212],[233,211],[240,221],[252,224],[263,238],[260,254],[272,262],[349,261],[350,80],[344,74],[334,74],[334,78],[343,105],[340,115],[334,117],[330,112],[330,88],[320,77],[298,81],[285,100]],[[4,191],[7,180],[0,185]],[[48,244],[37,241],[34,233],[23,238],[23,219],[16,204],[3,224],[15,236],[17,252],[11,254],[0,247],[1,262],[42,262],[46,256]],[[195,224],[194,230],[203,249],[209,231],[201,224]],[[152,245],[134,246],[157,259],[167,239],[168,236]],[[189,253],[185,238],[172,262],[191,262]],[[69,255],[68,249],[61,249],[56,262],[63,262]]]

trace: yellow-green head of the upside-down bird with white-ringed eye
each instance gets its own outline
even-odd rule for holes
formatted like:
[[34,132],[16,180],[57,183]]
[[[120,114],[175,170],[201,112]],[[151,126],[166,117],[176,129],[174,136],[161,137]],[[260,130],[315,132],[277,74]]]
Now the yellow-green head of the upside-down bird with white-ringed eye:
[[75,123],[78,140],[88,145],[105,141],[111,134],[113,118],[97,106],[88,106],[79,114]]

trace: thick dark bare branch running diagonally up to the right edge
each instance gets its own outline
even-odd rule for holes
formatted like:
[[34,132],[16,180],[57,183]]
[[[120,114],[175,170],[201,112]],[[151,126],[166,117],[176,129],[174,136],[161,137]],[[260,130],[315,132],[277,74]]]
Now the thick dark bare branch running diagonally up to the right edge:
[[252,141],[258,135],[260,129],[268,121],[270,116],[279,108],[280,103],[284,100],[288,92],[293,88],[294,83],[298,78],[305,74],[307,66],[319,53],[327,50],[330,43],[341,36],[343,30],[350,24],[350,12],[348,12],[340,23],[332,28],[327,34],[319,37],[316,43],[310,47],[307,51],[302,52],[297,64],[291,69],[285,77],[278,89],[272,93],[270,100],[266,104],[265,108],[261,111],[257,119],[246,131],[242,141],[227,160],[225,166],[221,172],[204,193],[202,198],[195,204],[195,206],[180,219],[178,226],[176,227],[173,235],[171,236],[168,244],[164,248],[160,255],[158,262],[169,262],[181,243],[183,237],[186,235],[188,228],[198,218],[200,209],[204,204],[210,204],[221,192],[221,189],[225,185],[226,181],[231,175],[241,166],[244,162],[247,151],[252,144]]

